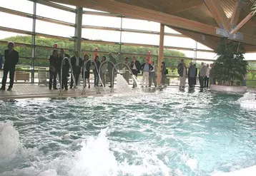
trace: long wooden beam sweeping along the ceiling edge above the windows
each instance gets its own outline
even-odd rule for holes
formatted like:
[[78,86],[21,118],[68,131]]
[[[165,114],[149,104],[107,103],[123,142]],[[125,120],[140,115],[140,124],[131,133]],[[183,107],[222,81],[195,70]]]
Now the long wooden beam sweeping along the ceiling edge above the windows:
[[63,4],[72,4],[75,6],[83,6],[89,9],[97,9],[99,11],[109,11],[116,14],[124,14],[124,16],[142,19],[147,21],[155,21],[165,25],[175,26],[182,29],[189,29],[200,33],[218,36],[215,26],[203,24],[197,21],[184,19],[179,16],[164,14],[159,11],[144,9],[138,6],[119,3],[111,0],[54,0]]

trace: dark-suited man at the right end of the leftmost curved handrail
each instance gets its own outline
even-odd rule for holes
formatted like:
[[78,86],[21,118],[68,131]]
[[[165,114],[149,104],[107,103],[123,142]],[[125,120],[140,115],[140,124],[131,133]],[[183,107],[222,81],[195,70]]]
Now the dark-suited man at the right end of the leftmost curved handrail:
[[[76,81],[76,87],[74,87],[74,88],[77,88],[77,83],[78,83],[78,80],[79,80],[79,76],[80,76],[80,73],[81,73],[82,62],[83,62],[82,58],[79,57],[79,51],[75,51],[74,56],[70,60],[71,60],[73,74],[74,74],[74,79]],[[71,77],[70,88],[72,88],[73,85],[74,85],[74,79],[73,79],[73,77]]]

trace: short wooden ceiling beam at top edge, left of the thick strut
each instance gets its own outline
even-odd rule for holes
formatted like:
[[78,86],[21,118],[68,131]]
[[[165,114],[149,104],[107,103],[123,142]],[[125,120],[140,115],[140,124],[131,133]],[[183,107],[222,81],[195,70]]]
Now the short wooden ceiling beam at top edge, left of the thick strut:
[[183,3],[180,3],[177,6],[173,6],[171,9],[168,9],[167,12],[168,14],[178,14],[179,12],[187,11],[189,9],[194,9],[197,6],[201,6],[203,4],[204,4],[203,0],[193,0],[193,1],[189,0]]

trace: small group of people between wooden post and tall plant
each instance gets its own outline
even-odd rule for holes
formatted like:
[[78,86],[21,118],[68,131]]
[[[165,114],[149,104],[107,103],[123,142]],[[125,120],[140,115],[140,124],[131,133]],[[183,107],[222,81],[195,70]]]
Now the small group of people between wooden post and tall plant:
[[[213,66],[214,64],[211,64],[211,68]],[[189,68],[187,69],[186,63],[184,63],[184,60],[182,59],[177,66],[177,70],[179,73],[179,88],[184,89],[187,78],[189,88],[195,88],[195,85],[197,84],[197,73],[199,76],[200,88],[209,88],[211,68],[209,68],[209,64],[205,66],[205,63],[202,62],[198,73],[198,69],[195,64],[193,64],[192,62],[189,63]]]

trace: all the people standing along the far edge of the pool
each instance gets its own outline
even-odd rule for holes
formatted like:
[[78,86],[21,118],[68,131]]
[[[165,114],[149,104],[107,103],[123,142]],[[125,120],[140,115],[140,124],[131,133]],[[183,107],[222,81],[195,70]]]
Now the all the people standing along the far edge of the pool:
[[[7,75],[9,73],[10,83],[9,88],[7,90],[11,90],[14,85],[14,73],[15,73],[15,67],[16,64],[19,62],[19,52],[14,50],[14,42],[9,42],[7,45],[8,49],[4,51],[4,76],[2,78],[2,86],[0,90],[6,89],[6,79]],[[112,85],[113,80],[113,68],[114,65],[117,64],[116,59],[112,56],[112,53],[109,53],[109,62],[107,61],[107,58],[105,56],[102,56],[102,60],[99,61],[99,56],[93,56],[93,60],[89,61],[89,55],[85,54],[83,58],[80,58],[79,51],[74,52],[74,56],[70,58],[70,62],[68,59],[63,58],[70,58],[70,56],[65,53],[64,49],[61,48],[60,53],[57,50],[54,50],[52,52],[52,55],[49,57],[49,89],[51,88],[58,89],[56,87],[56,78],[59,75],[59,80],[61,80],[62,85],[61,88],[68,90],[68,78],[71,77],[71,83],[69,88],[77,88],[79,76],[82,73],[82,78],[85,79],[86,83],[85,86],[90,88],[89,83],[89,75],[90,70],[94,73],[94,87],[97,86],[106,86],[106,80],[105,75],[107,73],[107,70],[109,72],[109,82],[110,82],[110,88]],[[1,60],[2,61],[2,60]],[[63,62],[63,63],[62,63]],[[102,64],[105,63],[105,64]],[[132,61],[129,61],[129,57],[126,57],[124,60],[124,63],[126,63],[126,66],[123,66],[124,68],[129,66],[129,68],[132,70],[132,74],[134,76],[138,76],[138,74],[142,71],[142,87],[151,87],[152,83],[154,83],[154,86],[157,86],[156,82],[156,73],[155,73],[155,63],[154,61],[150,62],[147,58],[144,63],[139,63],[137,61],[137,58],[134,56],[132,58]],[[61,78],[61,64],[62,64],[62,78]],[[71,65],[71,67],[70,67]],[[102,65],[102,66],[101,66]],[[100,68],[101,66],[101,68]],[[189,63],[189,68],[187,68],[186,64],[184,63],[184,60],[182,59],[181,62],[177,66],[177,71],[179,73],[180,83],[179,88],[184,88],[186,80],[188,78],[189,88],[195,88],[195,85],[197,84],[196,78],[197,73],[199,76],[200,81],[200,88],[209,88],[209,78],[211,73],[211,68],[214,66],[214,64],[211,64],[211,67],[207,64],[205,66],[205,63],[202,63],[198,69],[196,68],[195,64]],[[73,75],[69,75],[69,70],[72,68]],[[164,85],[164,80],[166,78],[166,75],[168,73],[168,70],[165,66],[165,63],[162,62],[161,66],[161,84]],[[129,74],[128,76],[124,76],[127,82],[129,83]],[[101,80],[101,84],[99,84],[99,80]],[[135,81],[133,81],[133,88],[137,87],[137,84]],[[215,78],[213,78],[213,83],[215,84]]]

